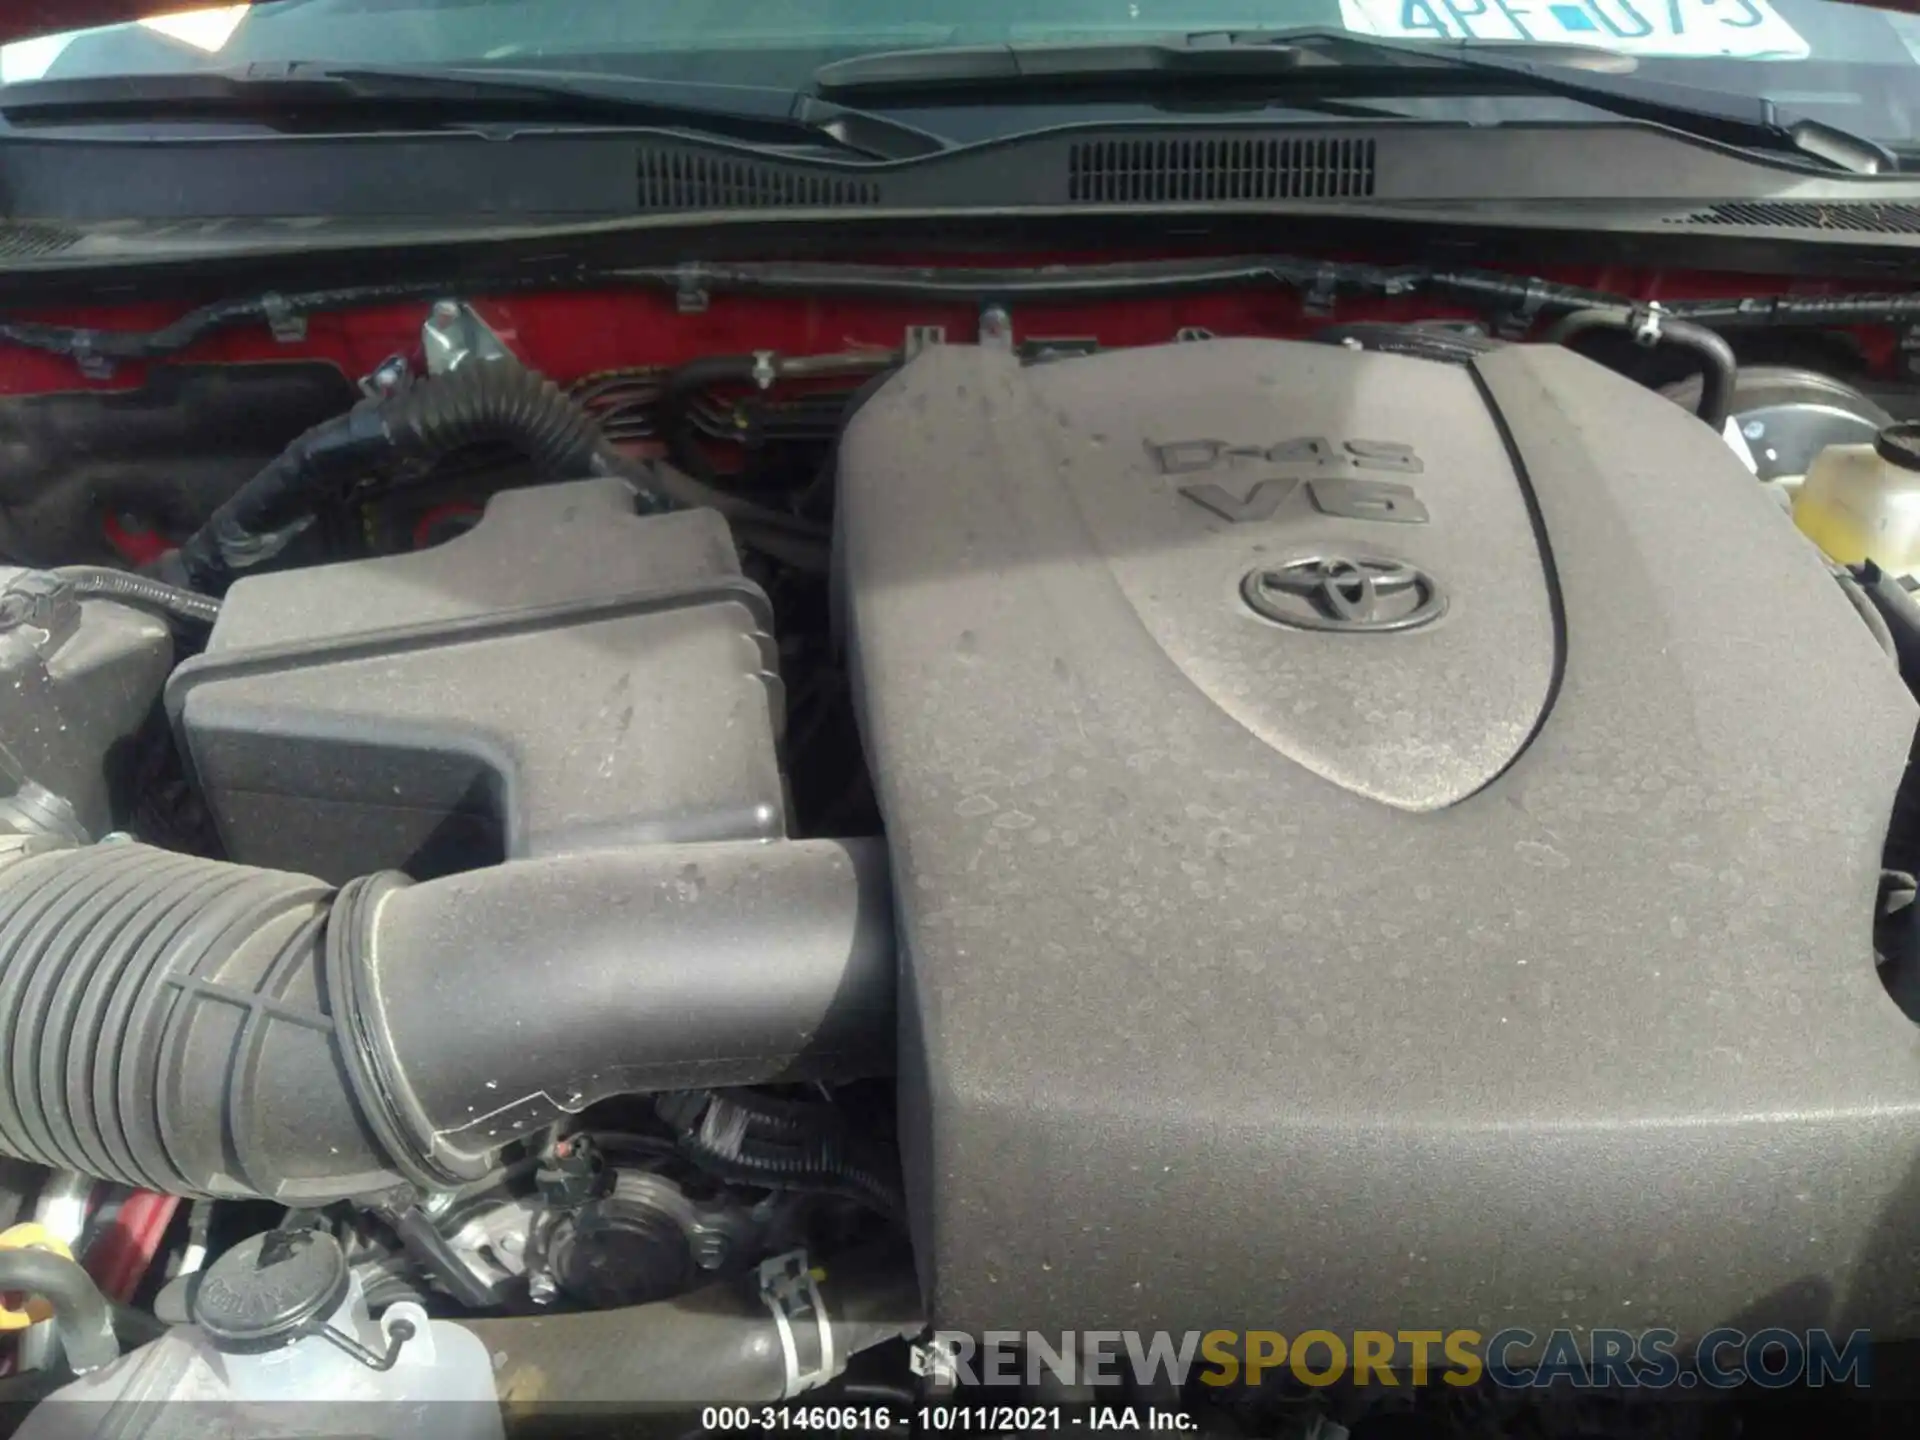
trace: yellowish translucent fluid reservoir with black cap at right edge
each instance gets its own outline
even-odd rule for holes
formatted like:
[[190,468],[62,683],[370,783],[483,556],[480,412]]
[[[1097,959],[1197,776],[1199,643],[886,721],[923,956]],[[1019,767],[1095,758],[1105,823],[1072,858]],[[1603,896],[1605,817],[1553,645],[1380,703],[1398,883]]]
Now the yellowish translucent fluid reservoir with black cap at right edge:
[[1920,422],[1822,449],[1793,495],[1793,524],[1839,564],[1920,570]]

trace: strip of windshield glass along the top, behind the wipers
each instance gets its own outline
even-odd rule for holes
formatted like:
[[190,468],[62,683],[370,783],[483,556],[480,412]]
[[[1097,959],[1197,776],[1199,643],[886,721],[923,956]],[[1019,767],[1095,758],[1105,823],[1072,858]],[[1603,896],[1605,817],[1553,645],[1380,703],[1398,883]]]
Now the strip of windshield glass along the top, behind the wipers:
[[1603,48],[1920,148],[1920,17],[1830,0],[267,0],[0,46],[0,81],[317,61],[803,86],[874,50],[1290,27]]

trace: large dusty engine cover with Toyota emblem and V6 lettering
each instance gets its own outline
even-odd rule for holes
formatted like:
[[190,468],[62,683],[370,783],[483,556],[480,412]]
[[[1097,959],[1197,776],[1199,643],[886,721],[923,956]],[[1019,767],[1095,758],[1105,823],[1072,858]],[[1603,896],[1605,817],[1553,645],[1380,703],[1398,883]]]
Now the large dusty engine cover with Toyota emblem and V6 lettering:
[[935,1319],[1920,1329],[1914,703],[1557,348],[935,348],[841,451]]

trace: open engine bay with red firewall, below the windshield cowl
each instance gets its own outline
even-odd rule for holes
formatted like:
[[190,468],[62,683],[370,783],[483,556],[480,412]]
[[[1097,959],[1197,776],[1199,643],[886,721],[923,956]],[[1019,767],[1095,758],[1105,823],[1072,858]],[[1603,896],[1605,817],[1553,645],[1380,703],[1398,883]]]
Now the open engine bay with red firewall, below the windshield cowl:
[[1920,388],[1866,305],[1542,284],[8,351],[15,1219],[190,1398],[1920,1338],[1920,607],[1797,499]]

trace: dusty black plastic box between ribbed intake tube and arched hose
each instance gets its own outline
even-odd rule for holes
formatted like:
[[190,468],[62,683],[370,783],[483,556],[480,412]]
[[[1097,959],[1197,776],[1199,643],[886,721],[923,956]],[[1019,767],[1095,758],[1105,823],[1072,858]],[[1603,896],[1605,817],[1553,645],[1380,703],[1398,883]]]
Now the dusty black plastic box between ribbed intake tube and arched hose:
[[234,860],[344,881],[785,833],[766,595],[712,511],[503,492],[438,547],[240,580],[167,687]]

